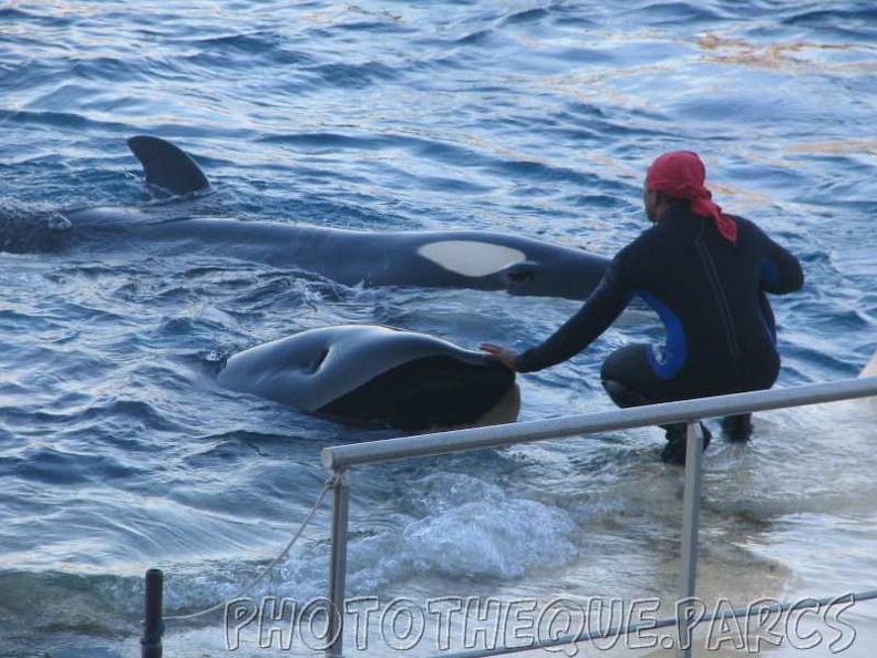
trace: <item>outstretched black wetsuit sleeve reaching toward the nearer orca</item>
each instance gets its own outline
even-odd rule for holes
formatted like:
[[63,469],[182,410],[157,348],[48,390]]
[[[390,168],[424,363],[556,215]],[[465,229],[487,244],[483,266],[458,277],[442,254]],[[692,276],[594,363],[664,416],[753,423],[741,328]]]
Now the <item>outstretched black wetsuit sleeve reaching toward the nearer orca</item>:
[[622,263],[623,251],[609,265],[599,286],[581,309],[540,346],[519,354],[515,360],[515,370],[533,372],[566,361],[606,331],[632,297],[631,287],[623,276]]

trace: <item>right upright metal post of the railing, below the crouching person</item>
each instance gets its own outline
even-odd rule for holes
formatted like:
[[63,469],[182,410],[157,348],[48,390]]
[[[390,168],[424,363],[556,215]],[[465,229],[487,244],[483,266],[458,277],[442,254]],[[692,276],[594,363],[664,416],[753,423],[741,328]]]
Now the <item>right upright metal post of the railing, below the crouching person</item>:
[[698,578],[698,528],[700,527],[701,475],[703,471],[703,432],[700,423],[689,421],[685,436],[685,491],[682,501],[682,551],[677,602],[677,656],[691,658],[694,594]]

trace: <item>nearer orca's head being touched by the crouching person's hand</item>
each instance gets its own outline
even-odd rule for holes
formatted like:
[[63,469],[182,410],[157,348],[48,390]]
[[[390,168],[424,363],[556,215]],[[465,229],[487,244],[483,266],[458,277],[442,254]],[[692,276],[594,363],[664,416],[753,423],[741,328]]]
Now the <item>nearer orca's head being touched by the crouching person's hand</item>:
[[483,352],[373,325],[311,329],[231,356],[220,385],[331,420],[404,431],[512,422],[515,373]]

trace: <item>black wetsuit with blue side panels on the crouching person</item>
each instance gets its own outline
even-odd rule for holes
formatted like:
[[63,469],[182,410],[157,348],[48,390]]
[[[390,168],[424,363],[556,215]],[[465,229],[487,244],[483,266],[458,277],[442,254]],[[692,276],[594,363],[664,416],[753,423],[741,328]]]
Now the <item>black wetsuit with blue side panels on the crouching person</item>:
[[732,218],[737,224],[733,244],[712,219],[671,210],[618,253],[581,310],[543,345],[522,353],[516,370],[541,370],[584,350],[640,296],[663,321],[667,342],[631,345],[606,360],[601,377],[616,403],[773,385],[780,357],[765,292],[797,290],[804,276],[797,259],[757,226]]

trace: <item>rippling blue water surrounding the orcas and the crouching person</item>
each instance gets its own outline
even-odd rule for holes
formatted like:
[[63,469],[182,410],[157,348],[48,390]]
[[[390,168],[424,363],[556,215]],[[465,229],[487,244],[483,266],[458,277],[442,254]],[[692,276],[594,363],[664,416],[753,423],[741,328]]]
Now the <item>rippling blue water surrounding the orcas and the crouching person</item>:
[[[234,596],[317,500],[320,449],[392,435],[218,389],[211,352],[341,322],[524,348],[576,309],[71,239],[65,209],[168,203],[125,137],[194,154],[217,214],[607,256],[644,226],[651,158],[697,150],[718,201],[804,264],[804,290],[775,299],[780,384],[843,379],[876,342],[876,19],[854,0],[0,2],[0,655],[136,655],[146,568],[168,614]],[[643,333],[657,321],[631,313],[522,377],[522,418],[610,408],[599,363]],[[705,598],[877,585],[874,417],[852,409],[763,414],[751,445],[713,444]],[[670,602],[681,474],[659,446],[639,430],[357,470],[349,590]],[[249,596],[322,596],[328,523],[326,506]],[[846,618],[846,655],[869,655],[877,608]],[[279,651],[241,637],[237,655]],[[165,655],[225,640],[216,616],[168,624]]]

